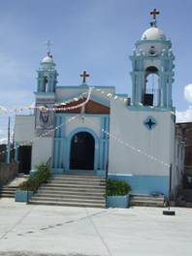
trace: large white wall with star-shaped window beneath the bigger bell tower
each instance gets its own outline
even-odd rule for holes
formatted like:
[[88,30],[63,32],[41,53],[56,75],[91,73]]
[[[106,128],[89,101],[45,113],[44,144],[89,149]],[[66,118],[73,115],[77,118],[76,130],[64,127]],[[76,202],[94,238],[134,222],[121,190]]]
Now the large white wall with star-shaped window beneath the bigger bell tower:
[[[144,126],[147,116],[157,122],[150,131]],[[169,176],[170,169],[165,164],[172,163],[174,157],[173,126],[171,112],[131,111],[122,102],[112,100],[111,134],[123,144],[110,137],[109,174]]]

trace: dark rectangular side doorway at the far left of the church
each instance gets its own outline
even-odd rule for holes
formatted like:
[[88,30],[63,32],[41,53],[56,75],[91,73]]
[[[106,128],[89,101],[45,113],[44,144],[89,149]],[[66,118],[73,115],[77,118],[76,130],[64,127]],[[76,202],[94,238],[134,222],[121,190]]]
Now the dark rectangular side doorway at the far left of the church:
[[19,173],[29,174],[31,170],[31,145],[21,145],[18,148]]

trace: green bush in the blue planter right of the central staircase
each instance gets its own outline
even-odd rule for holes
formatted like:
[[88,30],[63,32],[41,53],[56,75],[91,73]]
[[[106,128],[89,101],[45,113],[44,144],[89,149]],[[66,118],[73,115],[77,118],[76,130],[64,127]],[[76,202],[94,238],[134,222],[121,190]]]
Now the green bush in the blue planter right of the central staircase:
[[107,196],[124,196],[131,191],[131,186],[123,180],[108,180]]

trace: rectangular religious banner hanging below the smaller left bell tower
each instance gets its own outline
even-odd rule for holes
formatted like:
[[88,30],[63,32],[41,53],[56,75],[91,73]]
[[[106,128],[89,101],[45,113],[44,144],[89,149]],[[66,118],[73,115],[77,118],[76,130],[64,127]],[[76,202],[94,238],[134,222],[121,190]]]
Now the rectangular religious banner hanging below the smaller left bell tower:
[[51,110],[52,104],[37,105],[36,110],[36,129],[52,129],[53,128],[53,112]]

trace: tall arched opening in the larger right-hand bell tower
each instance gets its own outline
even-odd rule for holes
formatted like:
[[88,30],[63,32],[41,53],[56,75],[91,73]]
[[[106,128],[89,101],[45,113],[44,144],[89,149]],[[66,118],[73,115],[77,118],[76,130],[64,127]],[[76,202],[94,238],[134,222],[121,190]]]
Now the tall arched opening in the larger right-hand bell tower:
[[144,77],[144,106],[160,106],[160,78],[158,75],[158,69],[150,66],[145,70]]

